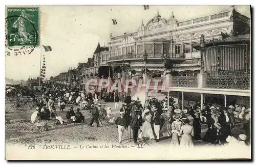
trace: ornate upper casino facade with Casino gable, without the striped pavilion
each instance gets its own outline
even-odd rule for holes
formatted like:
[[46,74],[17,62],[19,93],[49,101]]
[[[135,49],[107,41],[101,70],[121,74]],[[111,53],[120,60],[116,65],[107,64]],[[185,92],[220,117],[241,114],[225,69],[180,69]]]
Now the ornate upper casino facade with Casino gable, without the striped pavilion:
[[200,51],[193,45],[199,43],[202,35],[206,42],[217,41],[231,32],[244,34],[249,28],[250,19],[233,7],[226,12],[185,21],[177,20],[173,12],[170,12],[168,19],[157,12],[146,24],[142,21],[136,32],[120,36],[111,34],[108,50],[100,49],[98,45],[94,53],[94,66],[84,68],[83,74],[98,73],[100,67],[108,70],[105,74],[111,76],[116,72],[121,73],[123,67],[138,73],[145,68],[143,55],[146,53],[148,70],[163,71],[165,55],[174,64],[174,70],[189,70],[192,76],[199,73],[201,63]]

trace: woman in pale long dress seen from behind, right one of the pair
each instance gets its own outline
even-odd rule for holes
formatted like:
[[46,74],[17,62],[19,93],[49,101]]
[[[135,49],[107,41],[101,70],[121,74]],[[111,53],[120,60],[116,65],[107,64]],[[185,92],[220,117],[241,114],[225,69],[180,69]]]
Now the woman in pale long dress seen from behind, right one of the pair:
[[193,126],[189,125],[189,120],[186,119],[184,121],[185,125],[181,126],[180,134],[180,146],[181,147],[194,147],[192,136],[194,136],[194,128]]

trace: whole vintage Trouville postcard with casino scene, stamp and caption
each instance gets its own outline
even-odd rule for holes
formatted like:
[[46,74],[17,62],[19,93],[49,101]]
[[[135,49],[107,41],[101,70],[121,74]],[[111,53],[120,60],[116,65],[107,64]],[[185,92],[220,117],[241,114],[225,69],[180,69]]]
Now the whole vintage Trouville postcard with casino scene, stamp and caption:
[[6,6],[6,159],[251,159],[250,8]]

